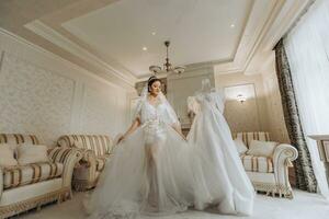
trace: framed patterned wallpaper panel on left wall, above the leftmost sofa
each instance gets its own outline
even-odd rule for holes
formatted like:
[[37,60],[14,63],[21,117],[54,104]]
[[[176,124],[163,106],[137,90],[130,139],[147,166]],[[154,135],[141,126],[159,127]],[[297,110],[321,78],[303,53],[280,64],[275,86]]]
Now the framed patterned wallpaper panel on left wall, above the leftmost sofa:
[[32,132],[46,143],[70,130],[75,81],[8,53],[0,71],[0,132]]

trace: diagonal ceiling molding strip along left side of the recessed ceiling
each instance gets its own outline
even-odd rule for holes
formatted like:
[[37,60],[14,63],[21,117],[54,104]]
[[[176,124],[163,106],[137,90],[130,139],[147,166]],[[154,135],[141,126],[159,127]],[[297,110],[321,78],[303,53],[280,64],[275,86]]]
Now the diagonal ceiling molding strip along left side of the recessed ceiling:
[[87,62],[94,65],[101,69],[103,69],[109,74],[120,78],[124,82],[128,83],[129,85],[134,87],[136,82],[136,78],[133,76],[127,76],[127,73],[123,73],[114,69],[107,62],[101,60],[95,55],[89,53],[84,48],[77,45],[75,42],[69,41],[58,32],[54,31],[48,25],[44,24],[43,22],[35,20],[24,25],[30,31],[34,32],[35,34],[46,38],[47,41],[52,42],[53,44],[59,46],[60,48],[73,54],[75,56],[82,58]]

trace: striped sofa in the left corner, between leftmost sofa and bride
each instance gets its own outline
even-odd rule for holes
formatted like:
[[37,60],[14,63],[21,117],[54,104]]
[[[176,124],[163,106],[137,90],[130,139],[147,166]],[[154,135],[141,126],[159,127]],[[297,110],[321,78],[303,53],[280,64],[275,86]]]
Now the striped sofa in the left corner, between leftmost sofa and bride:
[[82,150],[82,159],[73,171],[76,191],[88,191],[97,185],[114,146],[106,135],[65,135],[58,138],[57,145]]

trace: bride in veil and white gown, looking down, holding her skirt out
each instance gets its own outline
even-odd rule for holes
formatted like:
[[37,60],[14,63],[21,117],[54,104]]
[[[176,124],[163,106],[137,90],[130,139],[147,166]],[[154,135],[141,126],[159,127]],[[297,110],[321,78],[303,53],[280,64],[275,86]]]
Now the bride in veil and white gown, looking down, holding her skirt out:
[[90,218],[174,214],[186,210],[194,193],[203,194],[193,183],[188,142],[160,87],[159,79],[149,78],[134,123],[88,201]]

